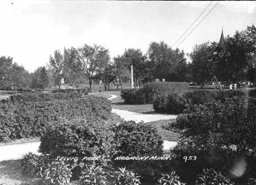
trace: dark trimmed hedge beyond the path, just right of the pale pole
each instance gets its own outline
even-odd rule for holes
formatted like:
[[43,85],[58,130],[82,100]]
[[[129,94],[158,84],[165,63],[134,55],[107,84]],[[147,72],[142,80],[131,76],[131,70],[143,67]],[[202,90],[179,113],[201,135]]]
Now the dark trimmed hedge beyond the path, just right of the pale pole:
[[121,97],[129,104],[151,104],[157,95],[182,93],[187,89],[188,83],[185,82],[151,82],[141,89],[123,89]]

